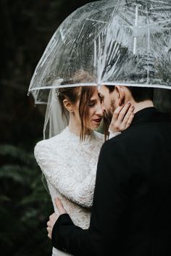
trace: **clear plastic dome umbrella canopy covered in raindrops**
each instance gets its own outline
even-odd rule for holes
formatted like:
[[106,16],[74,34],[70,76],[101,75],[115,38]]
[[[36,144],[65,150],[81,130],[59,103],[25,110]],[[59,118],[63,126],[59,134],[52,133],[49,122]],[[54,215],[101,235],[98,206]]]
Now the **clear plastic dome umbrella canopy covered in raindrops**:
[[29,91],[46,103],[49,88],[83,85],[171,88],[171,1],[106,0],[80,7],[57,28]]

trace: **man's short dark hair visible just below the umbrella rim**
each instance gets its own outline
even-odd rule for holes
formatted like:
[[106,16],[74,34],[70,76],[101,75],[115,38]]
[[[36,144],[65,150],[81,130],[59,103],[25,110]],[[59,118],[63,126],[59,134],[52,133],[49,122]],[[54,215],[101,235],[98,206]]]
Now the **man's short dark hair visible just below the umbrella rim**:
[[[107,86],[109,93],[114,91],[115,86]],[[133,96],[135,102],[143,102],[146,99],[153,101],[154,99],[154,88],[150,87],[138,87],[138,86],[126,86]]]

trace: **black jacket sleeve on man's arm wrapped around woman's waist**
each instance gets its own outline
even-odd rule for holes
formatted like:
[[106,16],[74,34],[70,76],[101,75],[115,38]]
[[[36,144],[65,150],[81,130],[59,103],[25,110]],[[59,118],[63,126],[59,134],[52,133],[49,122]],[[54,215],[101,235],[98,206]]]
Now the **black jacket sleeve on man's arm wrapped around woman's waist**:
[[85,231],[71,222],[64,223],[61,215],[53,230],[57,235],[54,247],[73,255],[104,256],[111,249],[117,255],[130,195],[131,163],[120,140],[110,139],[102,146],[90,228]]

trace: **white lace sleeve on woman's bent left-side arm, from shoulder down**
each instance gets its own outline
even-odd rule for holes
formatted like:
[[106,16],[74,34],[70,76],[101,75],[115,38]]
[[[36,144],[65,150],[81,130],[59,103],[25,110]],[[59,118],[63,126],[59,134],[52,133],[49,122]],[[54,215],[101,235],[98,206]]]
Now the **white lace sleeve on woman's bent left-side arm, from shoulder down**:
[[40,141],[36,144],[34,154],[46,179],[67,199],[83,207],[91,207],[96,166],[92,168],[84,180],[75,179],[75,176],[71,176],[68,170],[64,168],[62,160],[51,152],[51,145],[43,142]]

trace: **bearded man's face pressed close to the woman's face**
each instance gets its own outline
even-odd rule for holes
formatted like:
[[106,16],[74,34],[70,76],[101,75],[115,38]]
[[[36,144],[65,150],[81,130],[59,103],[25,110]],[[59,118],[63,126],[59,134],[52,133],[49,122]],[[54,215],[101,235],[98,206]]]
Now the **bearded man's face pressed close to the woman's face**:
[[100,86],[99,94],[103,99],[102,104],[104,112],[106,112],[107,116],[112,119],[114,110],[116,110],[116,108],[119,106],[115,88],[114,91],[109,93],[107,86]]

